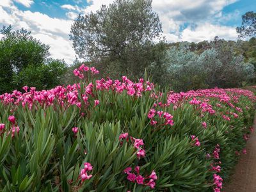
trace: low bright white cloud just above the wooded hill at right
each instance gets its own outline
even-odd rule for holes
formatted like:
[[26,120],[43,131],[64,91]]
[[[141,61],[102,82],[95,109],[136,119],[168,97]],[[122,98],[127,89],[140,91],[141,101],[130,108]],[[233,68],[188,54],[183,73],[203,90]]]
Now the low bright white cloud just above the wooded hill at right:
[[197,26],[195,29],[184,29],[184,31],[182,31],[181,40],[200,42],[203,40],[213,40],[215,36],[225,38],[226,40],[236,40],[237,33],[235,28],[204,23]]

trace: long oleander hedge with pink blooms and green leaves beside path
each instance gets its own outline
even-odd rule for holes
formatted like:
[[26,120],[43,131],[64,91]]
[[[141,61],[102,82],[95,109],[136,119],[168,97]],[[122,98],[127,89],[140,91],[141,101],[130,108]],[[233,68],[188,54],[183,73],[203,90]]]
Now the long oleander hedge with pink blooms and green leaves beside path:
[[248,90],[97,79],[0,95],[1,191],[220,191],[253,131]]

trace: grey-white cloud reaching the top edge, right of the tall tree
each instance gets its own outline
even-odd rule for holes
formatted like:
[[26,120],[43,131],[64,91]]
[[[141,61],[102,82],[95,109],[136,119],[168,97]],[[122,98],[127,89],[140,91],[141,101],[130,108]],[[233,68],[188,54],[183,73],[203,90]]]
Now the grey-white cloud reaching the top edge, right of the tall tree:
[[[158,13],[164,33],[179,33],[183,24],[198,24],[212,20],[214,15],[220,15],[221,10],[237,0],[154,0],[153,9]],[[174,32],[175,33],[175,32]]]

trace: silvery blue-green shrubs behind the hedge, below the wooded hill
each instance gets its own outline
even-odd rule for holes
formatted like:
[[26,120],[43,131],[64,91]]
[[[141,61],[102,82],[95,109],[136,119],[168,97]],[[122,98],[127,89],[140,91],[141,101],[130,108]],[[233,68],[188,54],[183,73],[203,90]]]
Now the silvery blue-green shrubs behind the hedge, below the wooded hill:
[[255,77],[254,66],[245,63],[232,45],[216,40],[199,55],[190,46],[181,44],[168,52],[169,82],[175,90],[237,87]]

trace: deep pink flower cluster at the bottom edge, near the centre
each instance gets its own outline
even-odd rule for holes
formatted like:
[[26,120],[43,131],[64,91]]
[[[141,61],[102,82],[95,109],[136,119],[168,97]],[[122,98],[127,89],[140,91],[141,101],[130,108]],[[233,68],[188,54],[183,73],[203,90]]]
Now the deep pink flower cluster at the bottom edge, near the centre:
[[142,175],[140,175],[140,166],[136,166],[134,168],[134,172],[136,174],[131,173],[131,171],[132,171],[131,167],[127,167],[124,170],[124,173],[127,174],[127,180],[129,180],[131,182],[136,182],[137,184],[140,184],[140,185],[149,186],[151,189],[155,188],[155,186],[156,186],[155,180],[157,180],[157,175],[156,175],[156,172],[154,170],[147,177],[143,177]]

